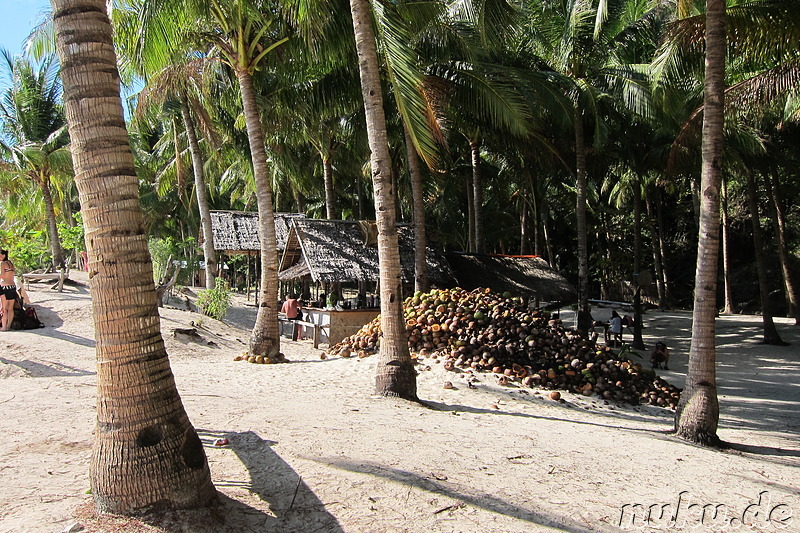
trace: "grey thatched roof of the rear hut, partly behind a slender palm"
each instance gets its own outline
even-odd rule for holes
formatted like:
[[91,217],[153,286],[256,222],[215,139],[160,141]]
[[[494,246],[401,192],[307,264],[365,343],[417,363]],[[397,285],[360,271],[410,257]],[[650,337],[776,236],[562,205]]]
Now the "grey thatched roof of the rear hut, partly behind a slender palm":
[[[275,237],[278,250],[286,247],[289,221],[304,217],[301,213],[275,213]],[[229,254],[245,254],[261,250],[258,237],[258,213],[249,211],[211,211],[214,249]]]

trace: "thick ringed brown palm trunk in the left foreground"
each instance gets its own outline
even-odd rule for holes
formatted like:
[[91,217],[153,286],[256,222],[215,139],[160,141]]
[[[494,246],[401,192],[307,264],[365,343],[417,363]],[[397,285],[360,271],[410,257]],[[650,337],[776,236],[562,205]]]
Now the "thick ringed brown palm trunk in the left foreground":
[[161,337],[105,0],[51,3],[97,342],[92,496],[117,514],[205,506],[216,491]]

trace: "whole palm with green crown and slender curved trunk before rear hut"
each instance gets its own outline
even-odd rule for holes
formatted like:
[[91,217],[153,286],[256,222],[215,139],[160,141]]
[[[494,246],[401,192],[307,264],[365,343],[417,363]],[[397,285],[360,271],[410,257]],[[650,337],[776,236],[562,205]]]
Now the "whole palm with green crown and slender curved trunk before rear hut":
[[[152,3],[151,3],[152,4]],[[278,332],[278,257],[272,183],[264,128],[253,74],[288,40],[278,6],[258,0],[234,2],[171,0],[142,2],[141,48],[152,50],[162,65],[174,46],[199,42],[202,54],[217,53],[235,76],[242,97],[244,122],[255,181],[261,240],[261,290],[258,314],[250,336],[250,352],[281,360]]]

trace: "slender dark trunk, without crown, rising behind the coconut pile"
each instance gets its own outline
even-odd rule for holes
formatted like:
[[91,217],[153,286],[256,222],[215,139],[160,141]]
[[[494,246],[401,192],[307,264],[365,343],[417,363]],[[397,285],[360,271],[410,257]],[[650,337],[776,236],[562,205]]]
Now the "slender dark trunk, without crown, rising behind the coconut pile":
[[589,247],[586,233],[586,139],[583,114],[575,108],[575,215],[578,232],[578,331],[586,333],[591,327],[589,313]]

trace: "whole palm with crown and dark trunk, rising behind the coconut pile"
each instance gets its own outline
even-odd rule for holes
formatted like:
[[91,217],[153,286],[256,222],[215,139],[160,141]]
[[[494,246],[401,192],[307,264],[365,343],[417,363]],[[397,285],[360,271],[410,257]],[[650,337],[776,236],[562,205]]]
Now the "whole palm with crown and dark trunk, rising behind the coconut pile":
[[[645,113],[644,77],[627,64],[626,47],[636,40],[642,20],[657,19],[663,7],[649,7],[631,17],[626,0],[599,2],[530,2],[526,13],[535,53],[553,70],[573,81],[575,148],[575,213],[578,234],[578,329],[589,327],[589,249],[587,243],[587,145],[603,137],[599,106],[608,100],[618,107]],[[636,11],[636,10],[634,10]],[[610,97],[610,98],[609,98]],[[587,135],[587,126],[593,126]]]

